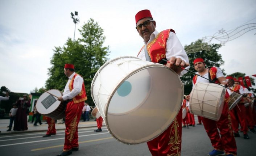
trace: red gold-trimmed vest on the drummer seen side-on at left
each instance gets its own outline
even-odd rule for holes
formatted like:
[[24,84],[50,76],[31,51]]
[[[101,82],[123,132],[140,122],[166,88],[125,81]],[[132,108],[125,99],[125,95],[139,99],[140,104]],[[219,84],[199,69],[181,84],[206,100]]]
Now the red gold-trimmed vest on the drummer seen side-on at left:
[[[77,75],[79,75],[79,74],[75,73],[75,75],[73,76],[73,78],[71,79],[71,81],[69,83],[69,90],[70,90],[70,92],[74,89],[74,80],[75,80],[75,77]],[[79,76],[81,76],[81,75],[79,75]],[[87,100],[87,96],[86,96],[86,92],[85,92],[85,88],[84,88],[84,83],[83,83],[82,84],[81,92],[79,94],[77,94],[77,96],[73,97],[73,101],[74,101],[75,104],[77,104],[77,103],[85,101],[85,100]]]

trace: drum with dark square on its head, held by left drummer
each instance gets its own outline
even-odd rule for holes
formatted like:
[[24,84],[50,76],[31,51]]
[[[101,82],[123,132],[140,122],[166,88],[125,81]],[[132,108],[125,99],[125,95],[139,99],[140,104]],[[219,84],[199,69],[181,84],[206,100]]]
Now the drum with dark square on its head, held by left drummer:
[[[61,92],[56,89],[48,90],[49,93],[60,97]],[[57,100],[57,97],[52,96],[47,92],[43,93],[37,100],[37,111],[47,117],[55,120],[63,119],[65,117],[65,105]]]

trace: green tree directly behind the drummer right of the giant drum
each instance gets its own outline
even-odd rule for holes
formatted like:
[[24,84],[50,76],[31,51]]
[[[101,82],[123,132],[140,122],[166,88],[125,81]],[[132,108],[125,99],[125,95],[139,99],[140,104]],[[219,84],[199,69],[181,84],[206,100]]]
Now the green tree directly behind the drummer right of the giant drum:
[[[200,48],[194,48],[198,47]],[[189,63],[190,63],[190,71],[197,72],[194,69],[193,61],[195,58],[203,58],[206,63],[206,67],[220,67],[224,63],[222,60],[222,56],[218,54],[218,49],[221,47],[220,44],[207,44],[202,42],[201,39],[198,39],[195,42],[192,42],[190,45],[185,46],[185,50],[189,50],[190,53],[187,54],[189,57]],[[224,70],[222,70],[224,71]],[[181,80],[184,84],[184,94],[188,95],[192,90],[192,79],[194,77],[194,74],[191,72],[187,72],[185,75],[181,77]]]

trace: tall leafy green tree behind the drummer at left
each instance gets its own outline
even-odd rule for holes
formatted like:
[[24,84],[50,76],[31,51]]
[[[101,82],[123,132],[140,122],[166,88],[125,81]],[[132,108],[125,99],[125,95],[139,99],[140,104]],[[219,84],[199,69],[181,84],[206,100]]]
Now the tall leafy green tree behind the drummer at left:
[[91,82],[99,67],[107,61],[109,47],[103,46],[105,40],[103,29],[92,18],[84,23],[79,32],[82,38],[74,42],[68,38],[63,47],[55,47],[50,60],[52,67],[49,68],[46,89],[63,91],[67,82],[63,71],[64,64],[74,64],[75,72],[83,76],[88,97],[87,103],[92,105]]

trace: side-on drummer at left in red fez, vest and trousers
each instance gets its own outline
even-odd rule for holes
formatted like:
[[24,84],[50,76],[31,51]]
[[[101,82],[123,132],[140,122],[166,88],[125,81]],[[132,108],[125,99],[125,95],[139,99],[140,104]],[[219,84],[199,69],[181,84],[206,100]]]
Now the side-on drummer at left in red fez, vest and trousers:
[[67,156],[72,151],[78,151],[78,123],[82,115],[84,101],[87,100],[83,77],[75,73],[73,64],[65,64],[64,73],[69,78],[58,100],[65,102],[65,143],[63,151],[58,156]]

